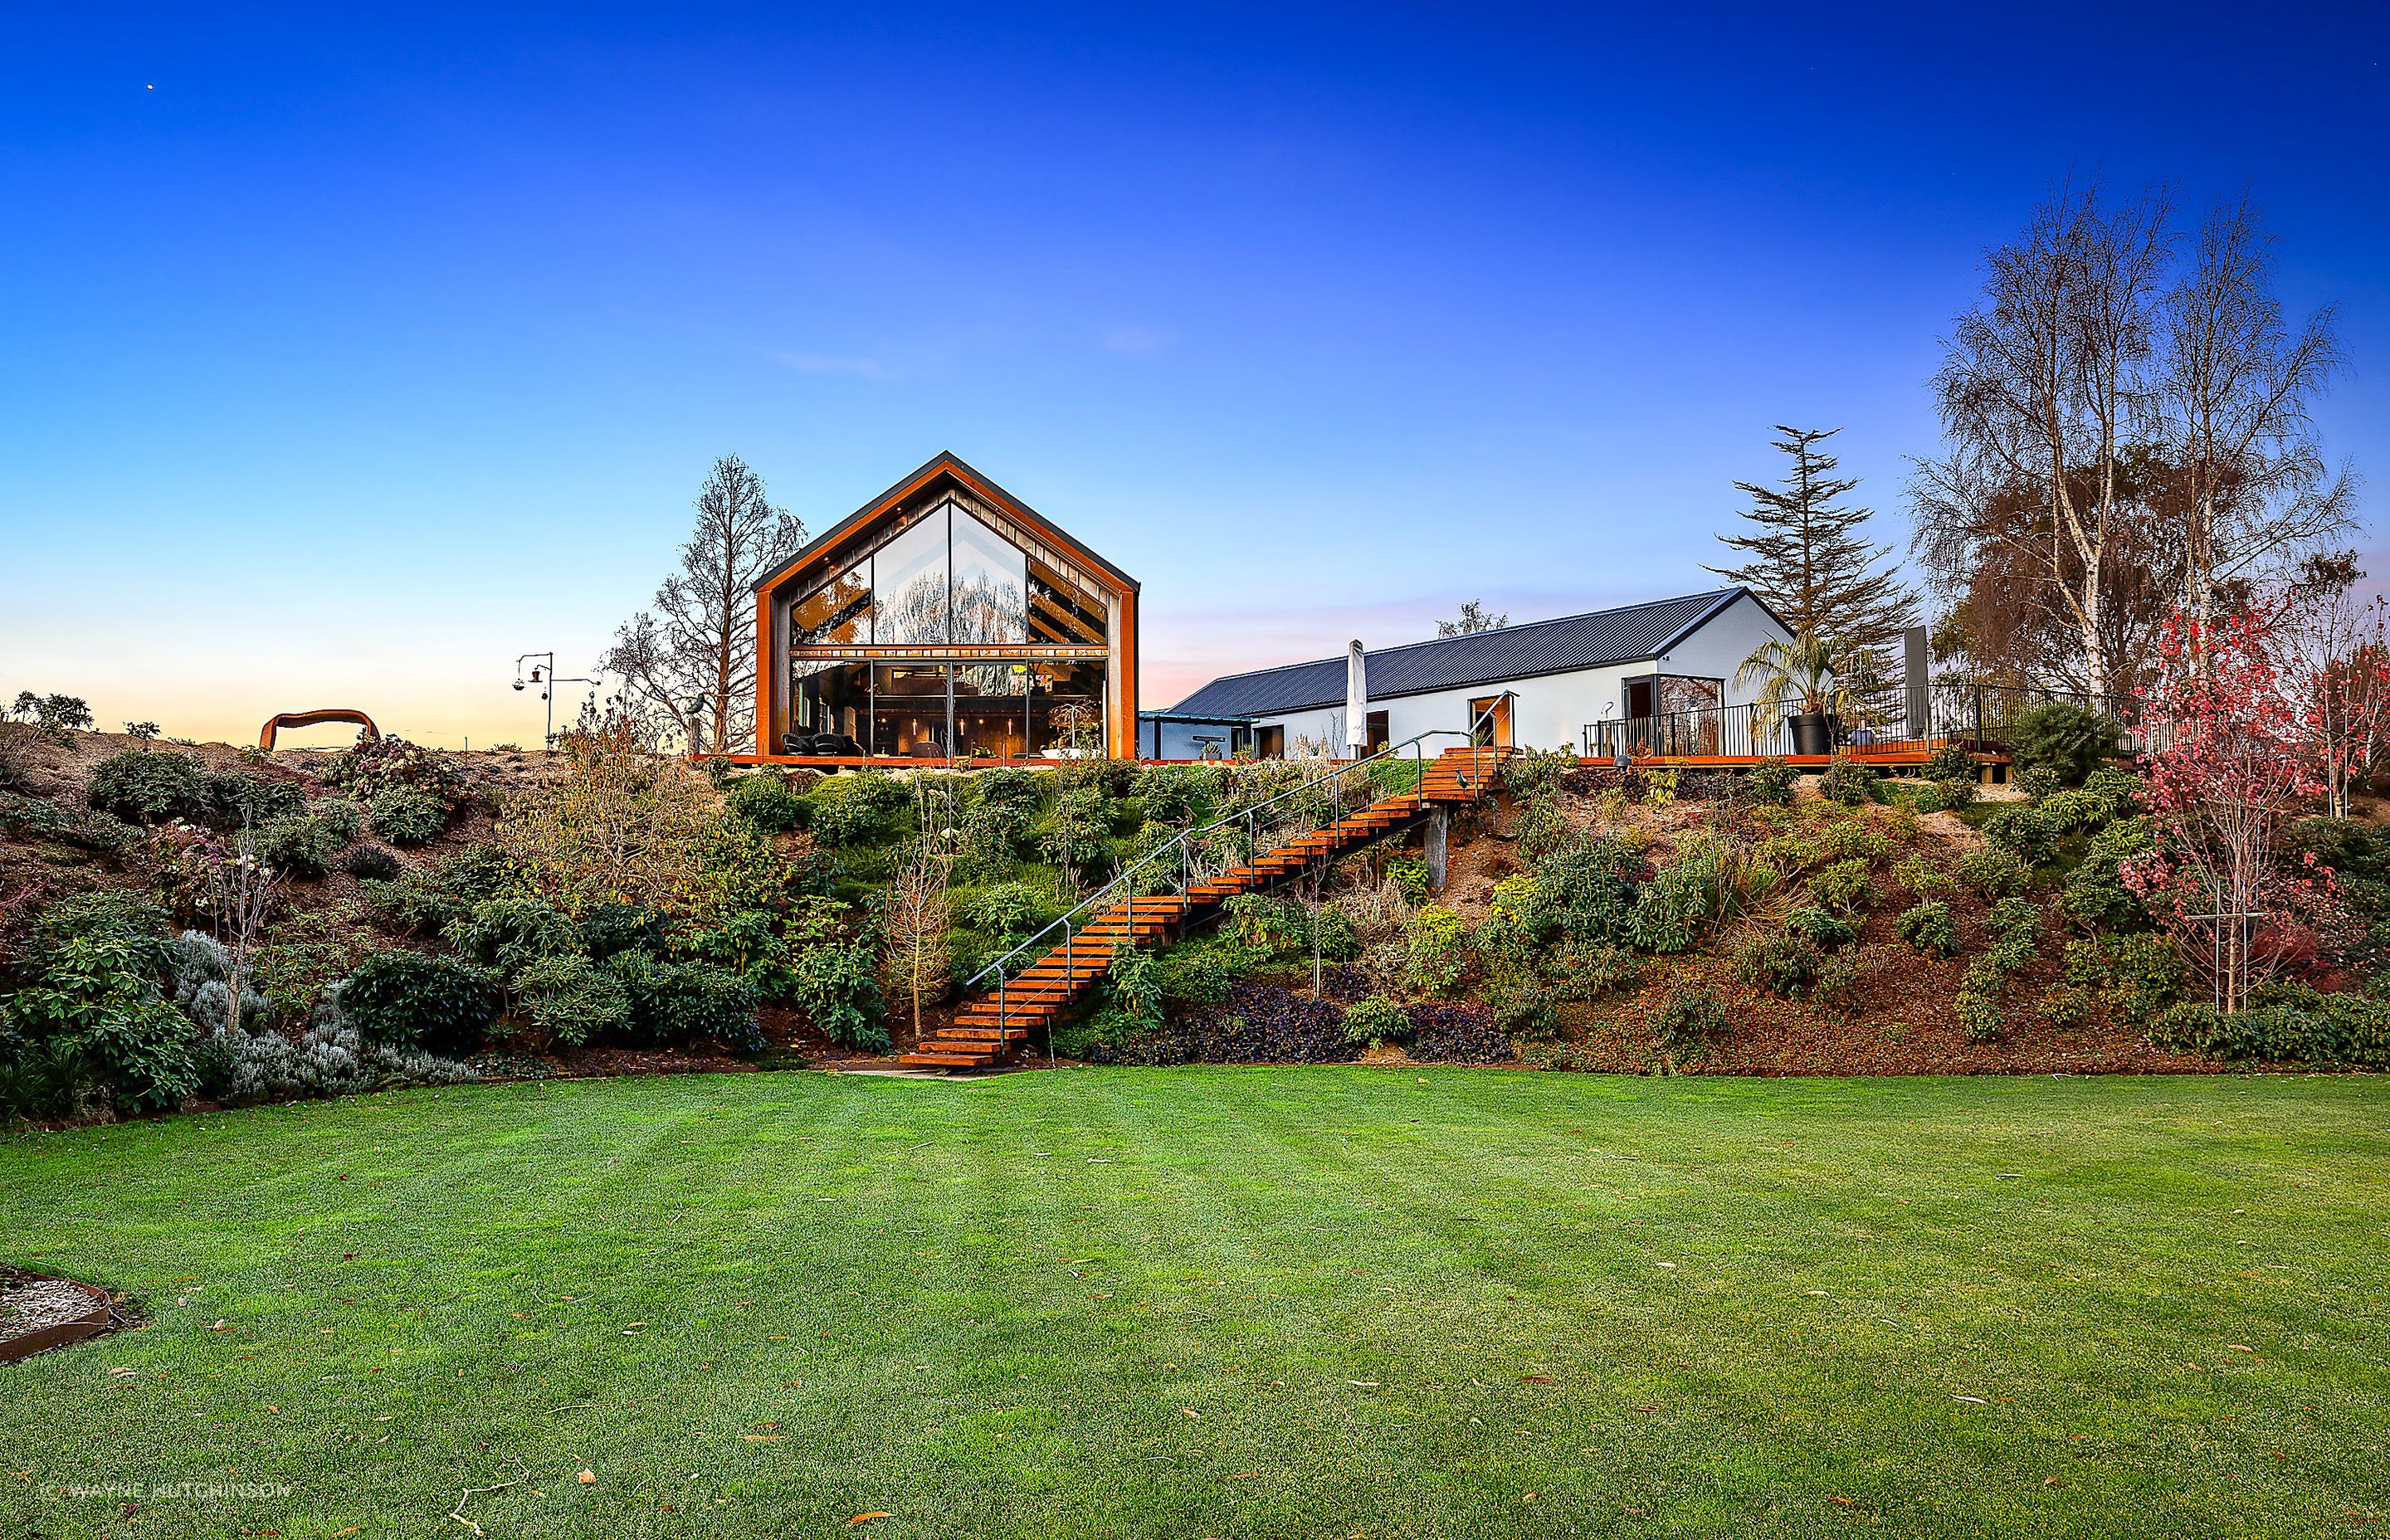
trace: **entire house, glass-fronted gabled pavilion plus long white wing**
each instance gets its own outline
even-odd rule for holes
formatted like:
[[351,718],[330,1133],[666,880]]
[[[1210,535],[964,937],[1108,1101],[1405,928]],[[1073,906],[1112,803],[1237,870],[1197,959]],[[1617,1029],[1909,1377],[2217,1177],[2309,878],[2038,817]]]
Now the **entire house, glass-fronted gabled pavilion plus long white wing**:
[[1714,588],[1365,650],[1358,734],[1346,658],[1228,674],[1140,717],[1138,581],[939,454],[755,583],[755,758],[1343,756],[1475,725],[1489,748],[1757,763],[1792,748],[1783,710],[1735,682],[1766,641],[1790,641],[1783,619]]

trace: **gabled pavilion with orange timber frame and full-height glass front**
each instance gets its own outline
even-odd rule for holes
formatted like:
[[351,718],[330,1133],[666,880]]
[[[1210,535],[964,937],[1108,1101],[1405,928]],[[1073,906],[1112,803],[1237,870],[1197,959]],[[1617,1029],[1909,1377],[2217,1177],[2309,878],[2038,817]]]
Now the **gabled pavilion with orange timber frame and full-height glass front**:
[[755,586],[755,753],[1138,751],[1138,581],[954,454]]

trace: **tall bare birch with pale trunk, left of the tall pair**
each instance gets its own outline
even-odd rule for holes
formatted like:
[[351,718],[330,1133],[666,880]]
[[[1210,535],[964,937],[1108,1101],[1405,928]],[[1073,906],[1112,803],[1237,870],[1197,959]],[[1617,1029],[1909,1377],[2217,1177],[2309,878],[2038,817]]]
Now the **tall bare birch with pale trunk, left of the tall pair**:
[[[2153,416],[2168,198],[2108,206],[2060,189],[2022,237],[1986,253],[1984,304],[1960,316],[1936,407],[1950,452],[1917,462],[1919,555],[1936,543],[2015,540],[2075,629],[2070,682],[2118,684],[2106,629],[2110,555],[2127,538],[2122,459]],[[1986,524],[1993,497],[2032,495],[2022,524]],[[1965,567],[1943,552],[1941,567]]]

